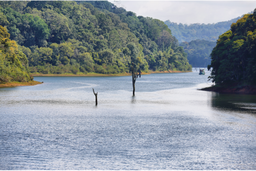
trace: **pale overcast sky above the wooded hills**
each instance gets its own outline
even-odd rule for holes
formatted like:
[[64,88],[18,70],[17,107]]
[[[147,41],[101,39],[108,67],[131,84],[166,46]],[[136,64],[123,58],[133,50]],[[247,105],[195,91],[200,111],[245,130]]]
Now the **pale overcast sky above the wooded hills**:
[[[114,4],[114,1],[109,1]],[[256,8],[256,1],[120,1],[137,16],[192,24],[217,23],[241,17]]]

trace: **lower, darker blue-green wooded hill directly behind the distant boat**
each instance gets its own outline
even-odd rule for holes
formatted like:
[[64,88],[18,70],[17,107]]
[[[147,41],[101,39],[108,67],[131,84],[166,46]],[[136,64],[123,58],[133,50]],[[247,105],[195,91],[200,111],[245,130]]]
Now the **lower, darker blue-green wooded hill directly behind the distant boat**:
[[193,67],[204,67],[211,64],[210,54],[216,46],[216,42],[206,40],[192,40],[191,42],[182,42],[179,44],[187,53],[189,64]]

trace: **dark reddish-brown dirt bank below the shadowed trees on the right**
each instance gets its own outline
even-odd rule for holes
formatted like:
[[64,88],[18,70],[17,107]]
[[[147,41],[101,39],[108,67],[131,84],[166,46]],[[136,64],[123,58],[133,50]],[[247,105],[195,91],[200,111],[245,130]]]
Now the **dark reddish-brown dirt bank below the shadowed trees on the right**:
[[203,91],[214,91],[225,94],[252,94],[256,95],[256,87],[253,86],[237,86],[237,87],[206,87],[200,89]]

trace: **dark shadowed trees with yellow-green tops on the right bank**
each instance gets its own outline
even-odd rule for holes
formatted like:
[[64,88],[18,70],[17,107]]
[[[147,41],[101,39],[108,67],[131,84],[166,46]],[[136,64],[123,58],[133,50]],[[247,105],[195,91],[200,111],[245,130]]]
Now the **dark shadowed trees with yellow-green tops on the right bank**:
[[256,85],[256,9],[219,36],[211,52],[209,79],[217,85]]

